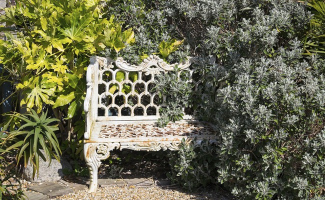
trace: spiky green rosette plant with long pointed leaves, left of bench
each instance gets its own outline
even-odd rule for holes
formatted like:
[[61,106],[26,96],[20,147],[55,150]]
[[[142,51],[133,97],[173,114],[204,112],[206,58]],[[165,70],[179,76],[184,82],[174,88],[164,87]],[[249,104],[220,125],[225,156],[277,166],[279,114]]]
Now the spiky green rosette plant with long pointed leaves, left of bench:
[[[61,150],[54,133],[58,130],[53,122],[56,118],[46,118],[47,111],[40,116],[34,110],[24,114],[12,114],[13,117],[21,119],[24,123],[16,130],[10,131],[3,143],[10,143],[6,150],[16,149],[16,162],[19,165],[23,159],[23,166],[26,167],[28,161],[33,167],[33,177],[38,174],[39,157],[51,162],[52,157],[59,160]],[[44,154],[40,149],[44,150]]]

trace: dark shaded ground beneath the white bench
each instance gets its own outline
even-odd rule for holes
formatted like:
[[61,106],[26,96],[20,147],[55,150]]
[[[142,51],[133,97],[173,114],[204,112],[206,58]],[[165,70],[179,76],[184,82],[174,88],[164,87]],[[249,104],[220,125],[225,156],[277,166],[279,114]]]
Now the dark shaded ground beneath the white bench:
[[[168,151],[113,150],[111,156],[102,161],[98,170],[99,186],[126,186],[130,188],[155,186],[163,190],[175,190],[188,194],[191,197],[190,199],[234,199],[229,192],[220,186],[209,186],[188,191],[177,184],[172,184],[166,176],[166,173],[170,171],[166,153]],[[100,180],[108,181],[108,183],[101,185],[100,182],[102,181]],[[139,181],[139,183],[134,183],[134,180]],[[152,181],[151,185],[141,184],[148,180]],[[69,181],[89,186],[88,177],[78,176]],[[110,184],[109,181],[115,182],[116,185]],[[121,183],[122,181],[126,184]]]

